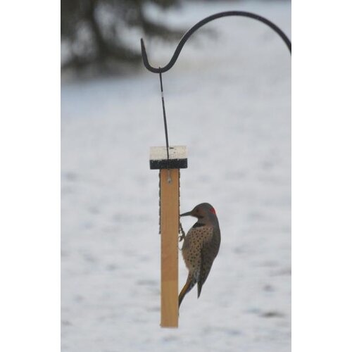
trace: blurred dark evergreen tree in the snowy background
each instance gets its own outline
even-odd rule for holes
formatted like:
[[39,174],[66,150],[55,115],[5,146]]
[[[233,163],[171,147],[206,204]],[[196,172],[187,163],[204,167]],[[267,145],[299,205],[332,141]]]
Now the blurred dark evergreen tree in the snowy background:
[[[139,51],[130,49],[123,32],[137,27],[150,37],[172,39],[181,32],[154,23],[146,16],[146,4],[165,9],[179,0],[61,0],[61,39],[66,58],[62,68],[116,68],[138,63]],[[183,32],[182,32],[183,33]]]

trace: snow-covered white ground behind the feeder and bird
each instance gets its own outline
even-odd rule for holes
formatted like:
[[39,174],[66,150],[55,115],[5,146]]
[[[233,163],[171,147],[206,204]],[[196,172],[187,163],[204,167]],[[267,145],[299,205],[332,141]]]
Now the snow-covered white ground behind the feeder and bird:
[[[166,20],[188,28],[230,9],[291,36],[289,1],[187,4]],[[289,51],[248,18],[193,37],[163,75],[165,103],[170,144],[189,151],[181,211],[213,204],[218,258],[199,300],[196,290],[184,298],[179,329],[161,329],[158,172],[149,170],[149,146],[165,144],[158,75],[63,83],[62,351],[291,350]],[[175,46],[146,39],[153,65]],[[180,289],[186,277],[180,256]]]

